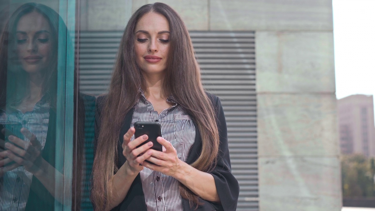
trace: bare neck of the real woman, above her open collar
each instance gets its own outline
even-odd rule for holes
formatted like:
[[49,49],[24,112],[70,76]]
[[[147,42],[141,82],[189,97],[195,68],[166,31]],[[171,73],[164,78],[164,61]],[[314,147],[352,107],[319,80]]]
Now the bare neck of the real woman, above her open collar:
[[165,74],[143,74],[145,79],[144,95],[147,99],[165,100],[166,93],[163,90],[163,82]]

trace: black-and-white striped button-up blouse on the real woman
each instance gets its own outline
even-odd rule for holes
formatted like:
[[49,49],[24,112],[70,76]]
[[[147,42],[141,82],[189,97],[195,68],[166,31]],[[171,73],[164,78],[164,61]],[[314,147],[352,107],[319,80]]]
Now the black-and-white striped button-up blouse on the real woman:
[[[172,143],[178,158],[186,161],[195,139],[195,127],[191,117],[172,96],[167,101],[175,105],[158,114],[142,90],[140,92],[141,96],[134,107],[131,127],[138,121],[159,121],[162,137]],[[134,140],[134,136],[131,140]],[[148,211],[183,211],[177,179],[148,168],[144,168],[140,175]]]

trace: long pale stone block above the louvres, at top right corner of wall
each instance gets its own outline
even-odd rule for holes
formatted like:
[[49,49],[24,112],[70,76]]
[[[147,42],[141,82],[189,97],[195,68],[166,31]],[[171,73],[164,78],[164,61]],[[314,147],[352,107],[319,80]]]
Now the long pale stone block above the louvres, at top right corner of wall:
[[332,0],[211,0],[211,30],[333,30]]

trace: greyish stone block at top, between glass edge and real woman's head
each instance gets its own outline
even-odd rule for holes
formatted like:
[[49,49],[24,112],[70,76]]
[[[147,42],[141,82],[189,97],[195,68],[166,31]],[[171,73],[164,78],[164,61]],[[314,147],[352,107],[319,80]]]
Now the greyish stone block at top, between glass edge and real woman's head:
[[88,30],[124,30],[132,0],[90,0],[87,7]]

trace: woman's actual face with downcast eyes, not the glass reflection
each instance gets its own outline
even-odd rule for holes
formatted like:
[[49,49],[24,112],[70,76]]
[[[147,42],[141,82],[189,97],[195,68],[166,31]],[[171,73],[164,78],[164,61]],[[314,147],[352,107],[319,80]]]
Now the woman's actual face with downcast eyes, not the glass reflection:
[[166,69],[169,50],[169,23],[163,15],[149,12],[135,27],[135,55],[146,74],[160,74]]

